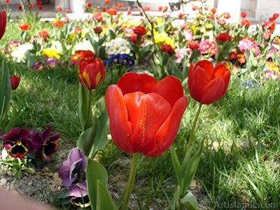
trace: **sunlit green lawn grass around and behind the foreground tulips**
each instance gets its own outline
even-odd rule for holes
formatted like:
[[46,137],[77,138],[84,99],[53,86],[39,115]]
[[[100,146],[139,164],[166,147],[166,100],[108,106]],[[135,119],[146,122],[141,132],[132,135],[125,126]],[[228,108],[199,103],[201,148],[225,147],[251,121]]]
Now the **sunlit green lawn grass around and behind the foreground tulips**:
[[[44,26],[40,27],[43,29]],[[15,28],[16,24],[9,25],[1,43],[20,39],[10,32]],[[64,66],[36,71],[11,59],[7,59],[7,62],[10,75],[15,73],[21,76],[18,90],[13,91],[8,113],[9,117],[20,113],[17,127],[42,131],[50,124],[53,133],[61,133],[61,141],[75,143],[81,133],[78,121],[78,69]],[[117,77],[116,73],[108,73],[94,92],[93,99],[102,97],[106,88],[118,81]],[[263,83],[262,78],[256,77],[258,88],[246,90],[241,82],[248,79],[251,78],[232,76],[225,96],[214,104],[202,107],[195,138],[197,147],[202,140],[205,147],[195,175],[197,189],[194,191],[202,209],[207,203],[210,205],[207,209],[230,209],[227,206],[230,204],[242,204],[242,207],[254,204],[258,206],[257,209],[261,204],[265,206],[262,209],[280,207],[279,83],[276,80]],[[179,160],[183,159],[186,151],[198,106],[191,97],[189,100],[174,141]],[[109,184],[110,189],[115,189],[120,196],[120,191],[124,189],[121,183],[127,181],[130,169],[129,162],[125,161],[124,164],[123,160],[131,160],[132,155],[123,153],[113,141],[109,141],[99,151],[97,158],[108,170],[109,178],[118,177],[116,183]],[[133,191],[137,209],[174,209],[174,182],[168,151],[155,158],[140,158]],[[64,209],[57,204],[57,199],[55,196],[54,205]],[[47,197],[45,201],[50,200],[53,198]]]

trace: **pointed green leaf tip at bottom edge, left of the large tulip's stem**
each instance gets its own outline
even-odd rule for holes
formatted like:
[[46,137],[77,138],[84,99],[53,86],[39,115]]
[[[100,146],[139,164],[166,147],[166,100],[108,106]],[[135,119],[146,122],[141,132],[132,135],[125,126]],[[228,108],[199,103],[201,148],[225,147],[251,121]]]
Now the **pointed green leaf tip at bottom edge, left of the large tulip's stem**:
[[118,210],[118,207],[113,202],[108,189],[104,187],[101,181],[97,181],[97,207],[96,210]]

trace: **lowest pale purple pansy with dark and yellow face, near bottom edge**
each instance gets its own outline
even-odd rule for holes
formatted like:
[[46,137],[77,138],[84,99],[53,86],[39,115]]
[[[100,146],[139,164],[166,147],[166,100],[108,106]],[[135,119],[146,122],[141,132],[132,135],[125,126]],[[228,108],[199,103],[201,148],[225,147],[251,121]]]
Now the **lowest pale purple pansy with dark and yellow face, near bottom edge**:
[[[90,206],[90,199],[87,195],[87,183],[81,182],[76,183],[65,193],[66,196],[71,196],[71,204],[75,204],[78,207],[88,207]],[[83,197],[83,198],[82,198]]]

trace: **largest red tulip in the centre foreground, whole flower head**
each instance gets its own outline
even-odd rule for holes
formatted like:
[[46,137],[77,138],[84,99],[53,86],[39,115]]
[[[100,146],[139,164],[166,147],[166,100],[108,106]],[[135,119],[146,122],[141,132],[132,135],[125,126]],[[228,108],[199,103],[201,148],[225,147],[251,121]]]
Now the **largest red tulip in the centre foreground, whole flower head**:
[[129,72],[106,91],[110,132],[126,153],[154,157],[172,145],[188,105],[179,79]]

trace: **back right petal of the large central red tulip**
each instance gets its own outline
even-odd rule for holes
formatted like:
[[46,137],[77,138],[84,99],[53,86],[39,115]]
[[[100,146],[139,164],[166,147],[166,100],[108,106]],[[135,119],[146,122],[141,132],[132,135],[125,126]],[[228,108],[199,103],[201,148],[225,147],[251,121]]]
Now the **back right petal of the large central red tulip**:
[[151,92],[155,92],[164,97],[173,107],[175,102],[183,97],[183,87],[178,78],[167,76],[153,86]]

